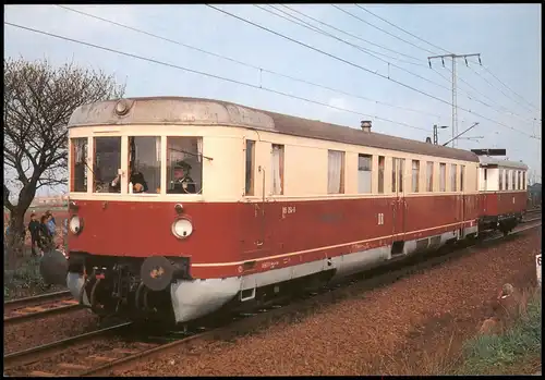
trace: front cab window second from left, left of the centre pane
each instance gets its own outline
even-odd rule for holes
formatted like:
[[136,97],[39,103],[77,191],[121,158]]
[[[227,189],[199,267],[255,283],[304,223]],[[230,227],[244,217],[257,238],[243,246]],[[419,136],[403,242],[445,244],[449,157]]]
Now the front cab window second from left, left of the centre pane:
[[121,193],[121,137],[95,137],[94,193]]

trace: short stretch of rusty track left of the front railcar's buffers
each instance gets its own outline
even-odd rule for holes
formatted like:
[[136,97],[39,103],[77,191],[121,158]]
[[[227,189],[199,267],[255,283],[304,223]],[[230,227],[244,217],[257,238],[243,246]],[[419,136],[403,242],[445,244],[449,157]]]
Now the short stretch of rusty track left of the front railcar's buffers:
[[15,324],[31,319],[80,308],[69,291],[41,294],[4,303],[3,324]]

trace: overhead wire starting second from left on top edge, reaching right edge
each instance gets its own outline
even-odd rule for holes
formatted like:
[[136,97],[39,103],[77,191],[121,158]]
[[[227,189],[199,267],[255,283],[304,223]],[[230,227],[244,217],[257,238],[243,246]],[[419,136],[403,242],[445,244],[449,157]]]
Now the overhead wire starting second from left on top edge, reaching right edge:
[[[413,90],[413,91],[415,91],[415,93],[422,94],[422,95],[424,95],[424,96],[426,96],[426,97],[428,97],[428,98],[432,98],[432,99],[438,100],[438,101],[440,101],[440,102],[443,102],[443,103],[446,103],[446,105],[452,106],[452,103],[450,103],[450,102],[449,102],[449,101],[447,101],[447,100],[444,100],[444,99],[441,99],[441,98],[438,98],[438,97],[436,97],[436,96],[433,96],[433,95],[431,95],[431,94],[427,94],[427,93],[425,93],[425,91],[423,91],[423,90],[421,90],[421,89],[417,89],[417,88],[414,88],[414,87],[412,87],[412,86],[409,86],[409,85],[407,85],[407,84],[404,84],[404,83],[402,83],[402,82],[399,82],[399,81],[397,81],[397,79],[392,79],[392,78],[390,78],[390,77],[388,77],[388,76],[386,76],[386,75],[384,75],[384,74],[379,74],[379,73],[373,72],[372,70],[370,70],[370,69],[367,69],[367,68],[361,66],[361,65],[359,65],[359,64],[356,64],[356,63],[353,63],[353,62],[351,62],[351,61],[348,61],[348,60],[342,59],[342,58],[340,58],[340,57],[337,57],[337,56],[335,56],[335,54],[328,53],[328,52],[326,52],[326,51],[324,51],[324,50],[320,50],[320,49],[317,49],[317,48],[315,48],[315,47],[313,47],[313,46],[310,46],[310,45],[306,45],[306,44],[304,44],[304,42],[301,42],[301,41],[299,41],[299,40],[296,40],[296,39],[294,39],[294,38],[291,38],[291,37],[289,37],[289,36],[286,36],[286,35],[283,35],[283,34],[281,34],[281,33],[278,33],[278,32],[275,32],[275,30],[272,30],[272,29],[269,29],[269,28],[267,28],[267,27],[265,27],[265,26],[262,26],[262,25],[259,25],[259,24],[257,24],[257,23],[254,23],[254,22],[252,22],[252,21],[249,21],[249,20],[246,20],[246,19],[243,19],[243,17],[238,16],[238,15],[235,15],[235,14],[232,14],[232,13],[230,13],[230,12],[227,12],[227,11],[225,11],[225,10],[222,10],[222,9],[216,8],[216,7],[210,5],[210,4],[206,4],[206,7],[209,7],[209,8],[214,9],[214,10],[216,10],[216,11],[218,11],[218,12],[225,13],[225,14],[227,14],[227,15],[229,15],[229,16],[233,17],[233,19],[237,19],[237,20],[239,20],[239,21],[242,21],[242,22],[244,22],[244,23],[246,23],[246,24],[250,24],[250,25],[253,25],[253,26],[255,26],[255,27],[258,27],[258,28],[261,28],[261,29],[263,29],[263,30],[266,30],[266,32],[268,32],[268,33],[270,33],[270,34],[274,34],[274,35],[276,35],[276,36],[278,36],[278,37],[281,37],[281,38],[284,38],[284,39],[287,39],[287,40],[289,40],[289,41],[292,41],[292,42],[294,42],[294,44],[301,45],[301,46],[303,46],[303,47],[305,47],[305,48],[307,48],[307,49],[311,49],[311,50],[314,50],[314,51],[316,51],[316,52],[319,52],[319,53],[322,53],[322,54],[324,54],[324,56],[330,57],[330,58],[332,58],[332,59],[335,59],[335,60],[337,60],[337,61],[340,61],[340,62],[347,63],[347,64],[349,64],[349,65],[351,65],[351,66],[354,66],[354,68],[356,68],[356,69],[360,69],[360,70],[363,70],[363,71],[365,71],[365,72],[368,72],[368,73],[371,73],[371,74],[373,74],[373,75],[377,75],[377,76],[379,76],[379,77],[382,77],[382,78],[385,78],[385,79],[391,81],[391,82],[393,82],[393,83],[396,83],[396,84],[398,84],[398,85],[400,85],[400,86],[403,86],[403,87],[405,87],[405,88],[409,88],[409,89],[411,89],[411,90]],[[493,123],[496,123],[496,124],[498,124],[498,125],[505,126],[505,127],[507,127],[507,128],[509,128],[509,130],[512,130],[512,131],[514,131],[514,132],[518,132],[518,133],[520,133],[520,134],[526,135],[526,136],[529,136],[529,137],[531,137],[531,138],[536,138],[536,137],[534,137],[534,136],[532,136],[532,135],[529,135],[529,134],[526,134],[526,133],[524,133],[524,132],[522,132],[522,131],[516,130],[516,128],[513,128],[513,127],[512,127],[512,126],[510,126],[510,125],[507,125],[507,124],[500,123],[500,122],[498,122],[498,121],[496,121],[496,120],[493,120],[493,119],[489,119],[489,118],[483,117],[482,114],[479,114],[479,113],[473,112],[473,111],[471,111],[471,110],[467,110],[467,109],[461,108],[461,107],[458,107],[458,106],[457,106],[456,108],[457,108],[457,109],[460,109],[460,110],[462,110],[462,111],[465,111],[465,112],[472,113],[472,114],[474,114],[474,115],[476,115],[476,117],[480,117],[480,118],[482,118],[482,119],[484,119],[484,120],[487,120],[487,121],[491,121],[491,122],[493,122]],[[537,138],[536,138],[536,139],[537,139]]]

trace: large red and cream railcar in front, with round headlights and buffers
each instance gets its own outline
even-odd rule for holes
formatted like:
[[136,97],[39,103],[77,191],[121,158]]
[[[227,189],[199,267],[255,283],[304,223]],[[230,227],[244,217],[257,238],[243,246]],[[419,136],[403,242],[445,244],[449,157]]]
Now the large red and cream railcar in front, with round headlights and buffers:
[[185,322],[479,232],[477,156],[368,126],[136,98],[69,136],[66,281],[100,314]]

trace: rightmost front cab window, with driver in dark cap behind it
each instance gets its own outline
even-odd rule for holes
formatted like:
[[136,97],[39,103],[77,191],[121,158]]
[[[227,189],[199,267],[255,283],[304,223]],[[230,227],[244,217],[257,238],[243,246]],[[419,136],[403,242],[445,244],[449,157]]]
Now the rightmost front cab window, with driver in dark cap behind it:
[[167,137],[167,194],[203,192],[203,138]]

